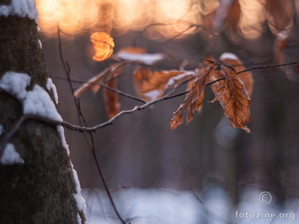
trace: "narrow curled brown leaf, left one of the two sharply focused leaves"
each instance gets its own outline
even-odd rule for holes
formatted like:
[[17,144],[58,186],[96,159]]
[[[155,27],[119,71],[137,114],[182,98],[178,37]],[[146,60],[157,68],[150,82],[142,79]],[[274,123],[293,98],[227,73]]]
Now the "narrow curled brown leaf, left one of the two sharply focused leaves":
[[179,109],[173,113],[173,119],[170,121],[170,128],[176,129],[179,124],[183,123],[183,116],[186,110],[187,112],[187,123],[193,119],[193,114],[196,109],[199,109],[205,95],[205,85],[208,83],[212,74],[213,65],[203,69],[197,75],[195,81],[192,84],[192,88],[187,94],[186,99],[181,104]]

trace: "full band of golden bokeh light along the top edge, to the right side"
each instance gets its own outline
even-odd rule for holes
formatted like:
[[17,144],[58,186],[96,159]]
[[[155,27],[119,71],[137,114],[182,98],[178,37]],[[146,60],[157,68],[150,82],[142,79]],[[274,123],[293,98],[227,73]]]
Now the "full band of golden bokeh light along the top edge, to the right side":
[[[296,0],[298,3],[299,0]],[[155,40],[181,38],[203,27],[210,34],[225,26],[232,1],[227,0],[36,0],[39,27],[55,36],[57,24],[63,34],[105,32],[123,34],[142,30]],[[277,34],[293,26],[292,0],[239,0],[238,9],[230,11],[240,34],[259,38],[268,29]],[[217,11],[215,11],[217,10]],[[222,12],[223,11],[223,12]],[[239,13],[241,11],[241,13]],[[215,14],[216,12],[216,14]],[[218,12],[218,13],[217,13]],[[213,15],[217,18],[213,18]],[[239,16],[240,15],[240,16]],[[223,18],[222,18],[223,17]],[[238,22],[239,19],[239,22]],[[268,23],[267,23],[268,22]],[[238,24],[238,25],[237,25]],[[207,27],[209,26],[209,27]]]

